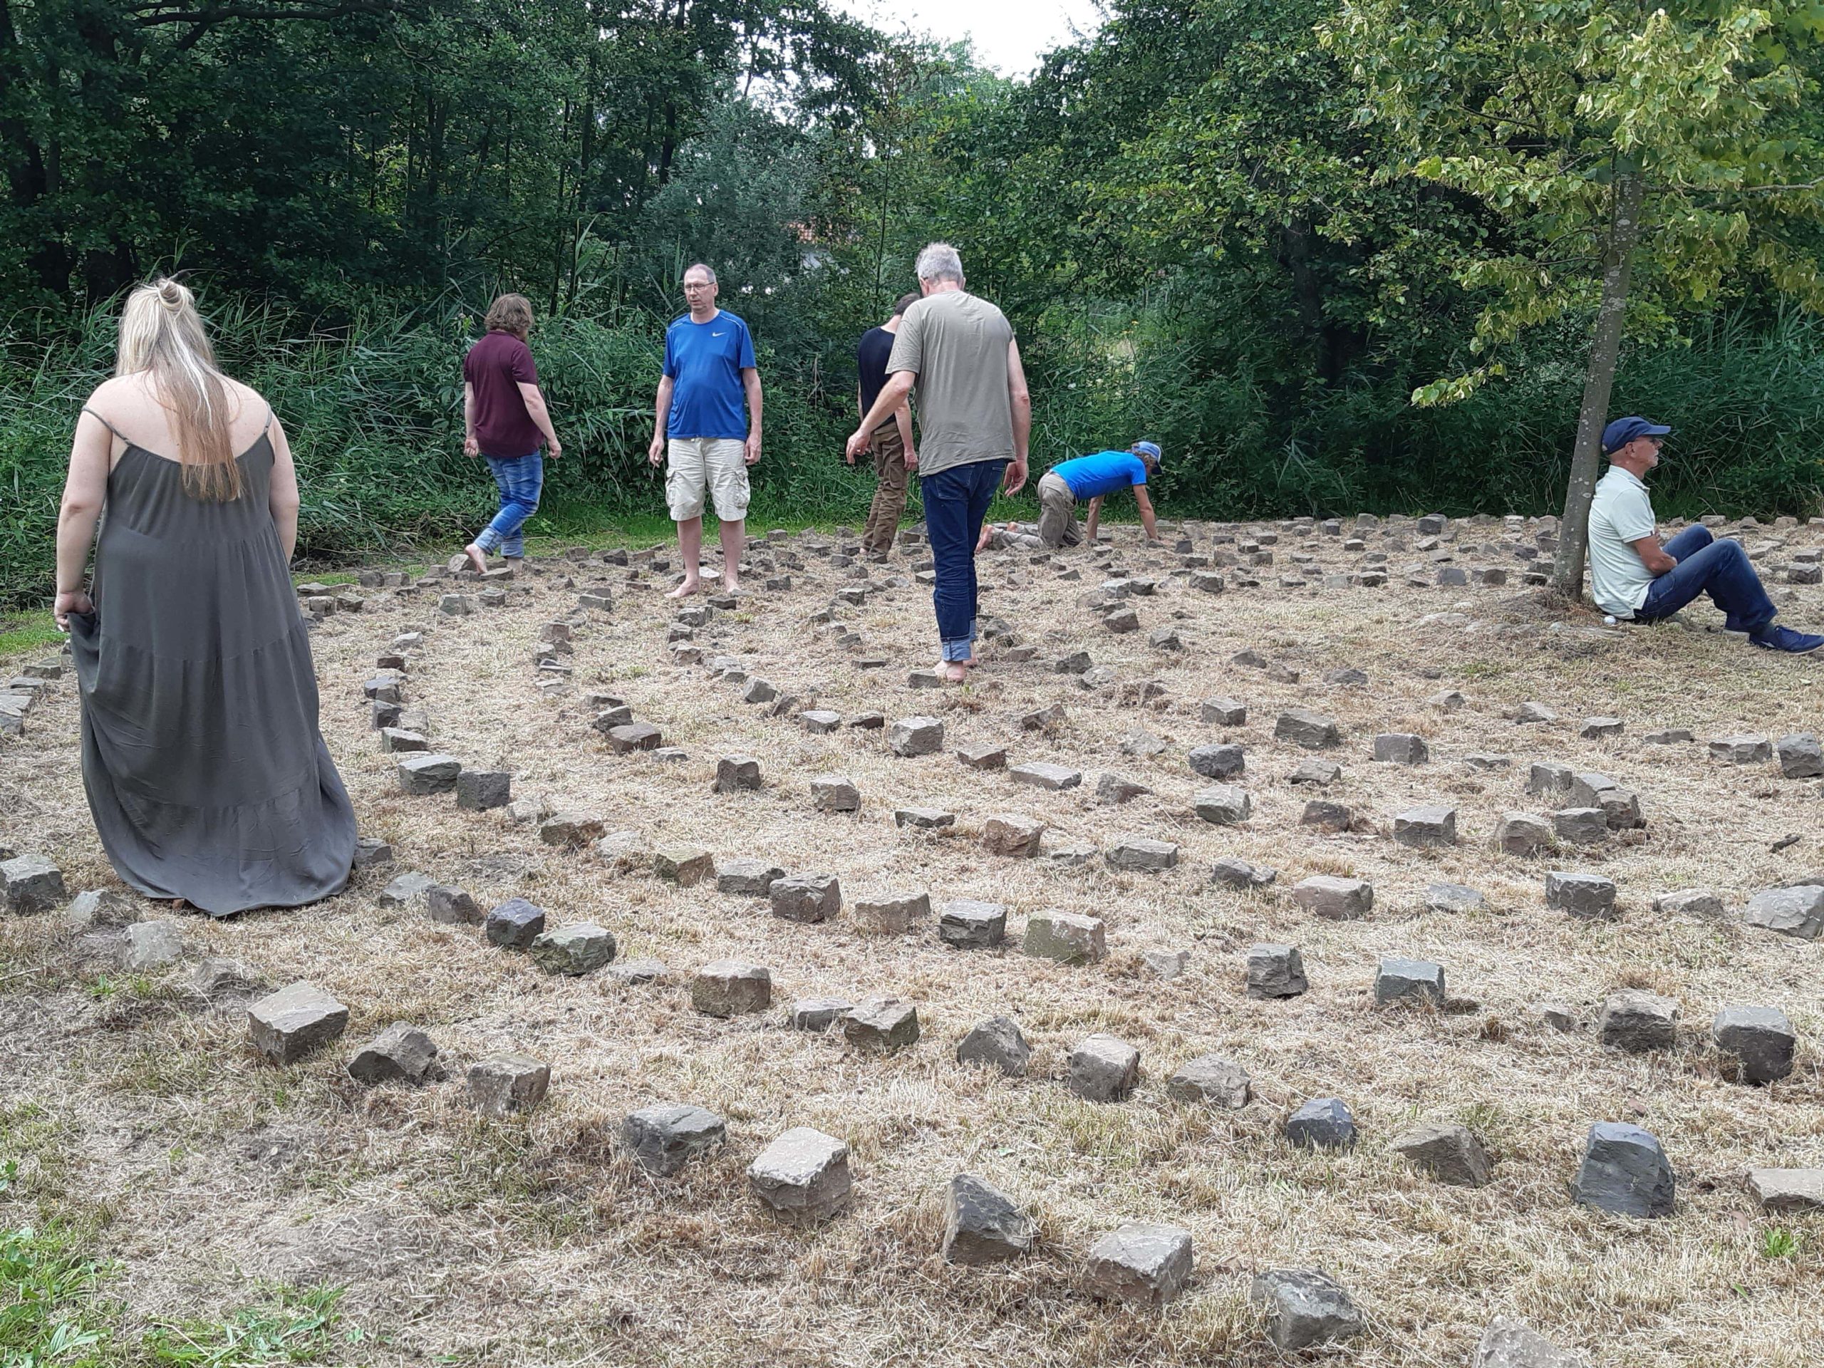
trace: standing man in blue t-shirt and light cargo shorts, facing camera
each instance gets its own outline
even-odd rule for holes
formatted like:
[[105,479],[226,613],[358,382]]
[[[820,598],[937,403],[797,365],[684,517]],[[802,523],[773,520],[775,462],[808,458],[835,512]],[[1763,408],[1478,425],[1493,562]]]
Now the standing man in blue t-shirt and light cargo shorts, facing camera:
[[[722,587],[741,587],[748,467],[761,460],[761,372],[748,325],[715,306],[715,272],[684,272],[689,314],[666,328],[666,365],[653,405],[648,460],[666,461],[666,505],[679,525],[684,580],[671,598],[697,593],[704,491],[722,523]],[[746,399],[748,412],[741,407]]]

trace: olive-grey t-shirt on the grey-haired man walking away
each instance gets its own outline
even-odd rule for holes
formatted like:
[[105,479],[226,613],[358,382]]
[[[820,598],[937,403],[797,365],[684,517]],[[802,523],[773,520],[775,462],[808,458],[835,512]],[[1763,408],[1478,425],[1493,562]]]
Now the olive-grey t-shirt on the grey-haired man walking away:
[[886,374],[917,379],[917,472],[1014,458],[1014,405],[1007,394],[1012,325],[987,299],[943,290],[919,299],[899,319]]

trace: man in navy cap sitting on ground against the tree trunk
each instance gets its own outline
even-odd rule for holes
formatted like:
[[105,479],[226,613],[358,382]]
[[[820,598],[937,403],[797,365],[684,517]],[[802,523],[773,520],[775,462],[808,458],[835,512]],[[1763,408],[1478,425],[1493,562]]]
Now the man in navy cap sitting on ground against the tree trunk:
[[1716,542],[1709,527],[1687,527],[1663,547],[1654,536],[1653,502],[1642,476],[1660,463],[1673,429],[1645,418],[1616,418],[1601,432],[1609,472],[1591,503],[1591,598],[1616,618],[1658,622],[1707,593],[1729,631],[1767,651],[1802,655],[1824,637],[1775,626],[1778,609],[1740,542]]

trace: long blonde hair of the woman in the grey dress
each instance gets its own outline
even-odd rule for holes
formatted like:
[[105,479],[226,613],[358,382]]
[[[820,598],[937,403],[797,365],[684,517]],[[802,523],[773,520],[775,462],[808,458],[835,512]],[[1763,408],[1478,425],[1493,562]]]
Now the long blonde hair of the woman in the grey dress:
[[241,496],[228,387],[186,286],[161,277],[128,295],[115,374],[150,378],[153,398],[171,416],[171,456],[184,467],[186,494],[210,503]]

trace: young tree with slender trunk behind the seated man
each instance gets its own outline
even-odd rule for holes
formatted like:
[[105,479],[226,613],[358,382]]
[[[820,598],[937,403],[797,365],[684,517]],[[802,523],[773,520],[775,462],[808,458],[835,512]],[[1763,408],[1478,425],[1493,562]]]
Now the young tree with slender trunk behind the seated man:
[[1567,596],[1583,587],[1623,334],[1671,332],[1673,306],[1740,270],[1824,306],[1795,248],[1824,202],[1795,58],[1820,31],[1804,0],[1344,0],[1321,26],[1361,84],[1361,117],[1403,140],[1395,171],[1476,195],[1508,228],[1461,268],[1490,297],[1470,339],[1479,365],[1414,401],[1501,374],[1501,343],[1527,326],[1594,316],[1552,571]]

